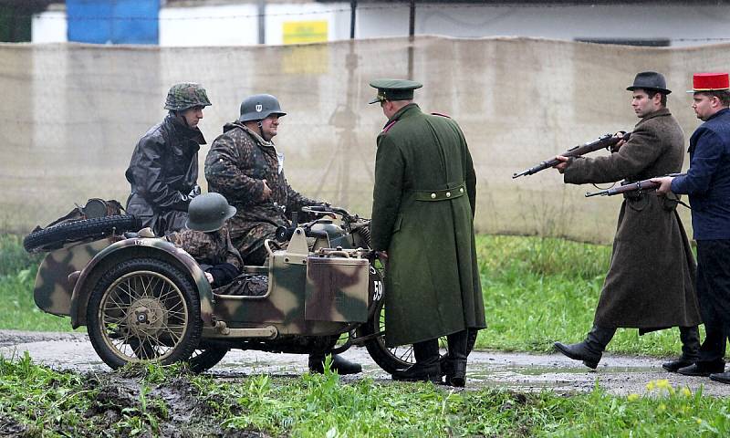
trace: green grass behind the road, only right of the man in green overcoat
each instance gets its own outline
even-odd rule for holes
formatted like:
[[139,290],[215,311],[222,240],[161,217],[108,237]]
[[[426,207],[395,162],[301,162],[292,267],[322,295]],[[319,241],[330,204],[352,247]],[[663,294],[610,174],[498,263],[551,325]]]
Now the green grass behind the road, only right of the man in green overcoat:
[[[551,351],[553,342],[578,342],[593,324],[609,269],[610,245],[564,239],[478,235],[479,272],[486,322],[477,349]],[[639,336],[619,329],[609,351],[673,356],[676,328]]]

